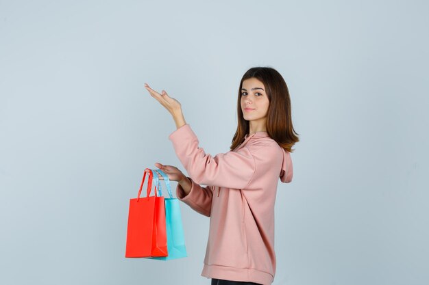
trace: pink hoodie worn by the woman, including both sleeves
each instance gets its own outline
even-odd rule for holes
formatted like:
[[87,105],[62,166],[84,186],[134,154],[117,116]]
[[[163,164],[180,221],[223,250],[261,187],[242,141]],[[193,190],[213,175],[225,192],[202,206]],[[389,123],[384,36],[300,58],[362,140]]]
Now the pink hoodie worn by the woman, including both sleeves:
[[246,135],[235,150],[215,157],[198,146],[189,124],[169,139],[192,182],[188,195],[177,183],[177,198],[210,217],[201,276],[270,285],[275,275],[275,195],[279,178],[292,180],[291,154],[267,132]]

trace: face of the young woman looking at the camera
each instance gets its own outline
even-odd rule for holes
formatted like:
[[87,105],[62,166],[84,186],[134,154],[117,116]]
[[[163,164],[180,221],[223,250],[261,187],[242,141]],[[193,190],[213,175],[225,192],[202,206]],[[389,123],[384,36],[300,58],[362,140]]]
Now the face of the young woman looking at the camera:
[[[252,77],[243,81],[241,86],[241,111],[245,120],[265,120],[269,100],[264,84]],[[248,109],[247,109],[248,108]]]

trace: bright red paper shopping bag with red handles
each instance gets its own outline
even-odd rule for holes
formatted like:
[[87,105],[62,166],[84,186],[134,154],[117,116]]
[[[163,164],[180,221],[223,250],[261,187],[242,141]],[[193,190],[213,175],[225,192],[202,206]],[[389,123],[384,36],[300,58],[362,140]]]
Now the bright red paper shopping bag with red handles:
[[[140,198],[146,174],[149,175],[146,197]],[[151,169],[146,168],[137,198],[130,199],[126,258],[168,256],[164,197],[158,195],[156,189],[155,195],[149,196],[152,180]]]

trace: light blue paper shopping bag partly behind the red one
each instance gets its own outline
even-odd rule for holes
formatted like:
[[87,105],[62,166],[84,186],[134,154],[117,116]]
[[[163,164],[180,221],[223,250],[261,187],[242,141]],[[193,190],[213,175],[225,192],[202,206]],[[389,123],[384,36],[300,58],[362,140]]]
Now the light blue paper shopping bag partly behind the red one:
[[164,257],[152,257],[151,259],[171,260],[176,258],[184,258],[188,255],[186,254],[182,215],[180,213],[180,202],[178,199],[173,198],[169,176],[167,176],[167,174],[165,174],[161,169],[152,169],[155,185],[159,191],[158,195],[162,195],[162,187],[156,172],[161,174],[164,178],[164,182],[170,196],[170,198],[164,198],[165,219],[167,227],[167,248],[169,255]]

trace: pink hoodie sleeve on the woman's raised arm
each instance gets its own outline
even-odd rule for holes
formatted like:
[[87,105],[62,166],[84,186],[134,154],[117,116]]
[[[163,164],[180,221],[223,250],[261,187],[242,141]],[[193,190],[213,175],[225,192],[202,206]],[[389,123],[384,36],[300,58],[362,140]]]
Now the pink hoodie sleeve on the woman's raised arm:
[[169,139],[189,176],[197,183],[244,189],[255,173],[255,159],[246,146],[237,152],[206,154],[189,124],[177,128]]

